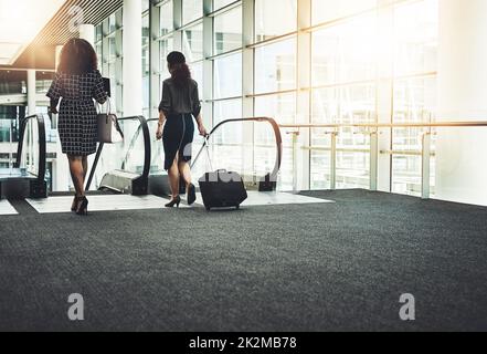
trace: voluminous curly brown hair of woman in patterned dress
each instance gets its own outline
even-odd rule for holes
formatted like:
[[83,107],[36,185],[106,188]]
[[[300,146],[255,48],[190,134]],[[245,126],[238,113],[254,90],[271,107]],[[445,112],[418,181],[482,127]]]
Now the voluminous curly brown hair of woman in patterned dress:
[[73,38],[61,51],[59,73],[85,74],[98,69],[98,59],[88,41]]

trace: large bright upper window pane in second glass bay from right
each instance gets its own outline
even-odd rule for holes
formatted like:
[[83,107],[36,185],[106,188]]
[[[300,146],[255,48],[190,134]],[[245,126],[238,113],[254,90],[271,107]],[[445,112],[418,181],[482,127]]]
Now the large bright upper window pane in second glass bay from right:
[[313,83],[374,80],[375,15],[353,19],[313,33]]

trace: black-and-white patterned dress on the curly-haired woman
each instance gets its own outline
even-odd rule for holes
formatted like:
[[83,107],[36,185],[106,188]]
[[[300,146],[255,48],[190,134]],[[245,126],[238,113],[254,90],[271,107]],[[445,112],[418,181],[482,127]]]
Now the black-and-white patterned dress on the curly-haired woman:
[[96,152],[97,119],[95,102],[107,100],[98,70],[81,75],[57,73],[46,94],[55,105],[60,98],[57,131],[64,154],[86,156]]

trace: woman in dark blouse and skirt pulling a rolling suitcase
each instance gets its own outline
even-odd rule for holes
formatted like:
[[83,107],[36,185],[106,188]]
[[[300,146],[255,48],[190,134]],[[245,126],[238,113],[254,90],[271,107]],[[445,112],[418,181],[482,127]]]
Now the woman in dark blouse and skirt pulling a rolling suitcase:
[[[201,104],[198,84],[191,79],[186,58],[180,52],[171,52],[168,58],[168,70],[171,77],[162,84],[162,100],[159,105],[159,126],[157,138],[162,138],[165,147],[165,169],[168,170],[172,198],[168,208],[179,207],[180,176],[187,185],[188,204],[195,199],[195,188],[191,183],[189,162],[191,160],[191,144],[194,135],[192,117],[197,119],[200,135],[205,136],[201,117]],[[163,127],[163,128],[162,128]]]

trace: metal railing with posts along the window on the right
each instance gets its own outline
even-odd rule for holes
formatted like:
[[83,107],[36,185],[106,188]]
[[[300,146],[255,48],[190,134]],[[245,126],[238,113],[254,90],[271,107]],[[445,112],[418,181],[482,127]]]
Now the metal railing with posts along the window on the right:
[[[293,165],[296,166],[298,147],[298,136],[301,129],[318,129],[325,128],[330,129],[326,134],[330,135],[330,147],[326,148],[330,152],[330,189],[336,189],[337,185],[337,136],[340,128],[362,128],[364,131],[360,132],[370,136],[370,190],[378,190],[378,176],[379,176],[379,154],[405,154],[405,155],[420,155],[422,159],[422,170],[421,170],[421,197],[423,199],[428,199],[431,195],[431,181],[430,181],[430,163],[431,157],[434,156],[432,152],[432,129],[433,128],[448,128],[448,127],[487,127],[486,121],[474,121],[474,122],[441,122],[441,123],[351,123],[351,124],[280,124],[282,129],[290,129],[286,132],[293,135]],[[424,128],[425,132],[422,134],[421,145],[422,148],[419,152],[415,150],[379,150],[379,131],[381,128]],[[301,146],[300,149],[314,150],[314,146]],[[324,149],[320,147],[319,149]],[[297,190],[297,171],[294,168],[293,186]]]

